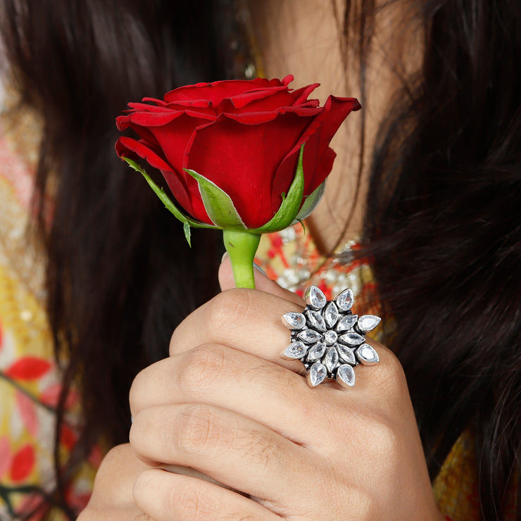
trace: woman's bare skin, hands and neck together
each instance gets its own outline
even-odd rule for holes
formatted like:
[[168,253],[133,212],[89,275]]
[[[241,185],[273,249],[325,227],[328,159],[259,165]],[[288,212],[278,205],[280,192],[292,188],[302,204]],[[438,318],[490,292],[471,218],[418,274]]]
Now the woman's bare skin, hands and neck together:
[[[314,0],[252,3],[255,20],[271,17],[259,30],[267,77],[291,72],[296,86],[320,77],[322,101],[330,92],[356,95],[346,82],[352,75],[339,51],[333,4],[318,16]],[[362,100],[367,149],[396,85],[382,49],[392,38],[402,60],[400,49],[418,48],[407,44],[410,32],[389,23],[377,30],[381,46]],[[310,45],[310,34],[322,45]],[[406,58],[410,67],[418,63]],[[332,144],[337,161],[307,223],[323,251],[360,231],[367,172],[353,200],[354,117]],[[301,363],[280,358],[289,342],[280,317],[302,310],[300,297],[260,272],[256,290],[234,289],[229,261],[219,277],[222,293],[177,327],[170,357],[134,380],[130,444],[104,458],[80,521],[443,520],[394,354],[369,340],[381,361],[358,366],[355,387],[310,389]]]

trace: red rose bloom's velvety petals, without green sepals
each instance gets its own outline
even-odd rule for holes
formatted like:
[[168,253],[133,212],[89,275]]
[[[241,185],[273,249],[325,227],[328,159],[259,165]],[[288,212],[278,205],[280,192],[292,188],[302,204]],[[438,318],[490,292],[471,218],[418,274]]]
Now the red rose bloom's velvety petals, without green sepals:
[[[129,103],[117,118],[121,157],[144,158],[161,170],[172,194],[196,220],[213,225],[194,170],[232,200],[245,227],[256,229],[279,210],[294,180],[303,148],[303,198],[317,189],[332,169],[329,148],[342,121],[360,108],[354,98],[329,96],[325,106],[308,96],[318,84],[288,88],[280,80],[232,80],[198,83],[165,94],[164,101]],[[299,208],[300,208],[299,206]]]

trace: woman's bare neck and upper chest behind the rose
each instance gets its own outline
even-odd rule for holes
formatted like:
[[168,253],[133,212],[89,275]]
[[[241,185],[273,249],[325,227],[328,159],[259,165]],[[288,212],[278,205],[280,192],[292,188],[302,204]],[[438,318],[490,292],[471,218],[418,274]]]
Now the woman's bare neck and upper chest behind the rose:
[[[299,87],[318,81],[321,85],[315,93],[321,103],[329,94],[354,96],[362,103],[362,111],[347,118],[330,144],[337,159],[322,201],[306,220],[321,253],[332,253],[362,235],[370,156],[391,96],[399,87],[396,70],[403,71],[404,58],[410,60],[405,56],[408,49],[418,49],[410,42],[413,31],[403,31],[399,2],[377,15],[375,41],[366,55],[365,92],[361,92],[360,62],[345,42],[341,0],[266,0],[251,2],[250,8],[267,77],[292,74]],[[393,20],[403,24],[401,32]],[[396,56],[389,56],[390,42],[398,49]]]

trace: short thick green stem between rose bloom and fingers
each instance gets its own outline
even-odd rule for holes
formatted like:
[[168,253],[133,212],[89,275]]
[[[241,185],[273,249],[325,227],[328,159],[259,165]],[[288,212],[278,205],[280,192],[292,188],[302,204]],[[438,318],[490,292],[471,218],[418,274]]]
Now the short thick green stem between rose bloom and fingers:
[[261,234],[246,230],[222,230],[225,248],[232,261],[233,278],[238,288],[254,288],[253,258],[261,240]]

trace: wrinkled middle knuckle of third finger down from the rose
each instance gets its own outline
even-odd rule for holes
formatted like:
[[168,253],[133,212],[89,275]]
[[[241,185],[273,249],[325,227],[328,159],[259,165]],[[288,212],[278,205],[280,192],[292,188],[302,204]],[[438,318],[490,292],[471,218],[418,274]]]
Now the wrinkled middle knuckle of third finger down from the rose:
[[225,432],[211,408],[203,404],[185,407],[177,418],[177,444],[186,453],[214,451]]

